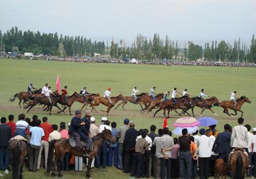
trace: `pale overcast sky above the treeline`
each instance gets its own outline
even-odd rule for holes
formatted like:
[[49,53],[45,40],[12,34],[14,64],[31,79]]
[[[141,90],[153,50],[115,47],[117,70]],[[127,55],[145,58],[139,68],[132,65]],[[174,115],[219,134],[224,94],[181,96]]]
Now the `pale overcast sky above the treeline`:
[[95,40],[153,37],[249,43],[256,33],[255,0],[1,0],[0,30],[84,35]]

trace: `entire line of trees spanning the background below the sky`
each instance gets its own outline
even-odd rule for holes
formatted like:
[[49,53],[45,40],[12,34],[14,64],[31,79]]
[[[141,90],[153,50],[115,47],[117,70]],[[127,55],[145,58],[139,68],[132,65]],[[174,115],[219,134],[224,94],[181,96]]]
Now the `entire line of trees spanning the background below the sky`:
[[185,42],[171,40],[168,36],[161,39],[155,33],[153,39],[138,34],[132,44],[127,45],[124,39],[115,42],[112,39],[110,47],[104,41],[92,41],[85,37],[70,37],[56,33],[40,33],[30,30],[22,32],[17,27],[2,34],[0,31],[0,51],[5,52],[32,52],[34,54],[85,56],[91,53],[110,55],[112,58],[135,58],[138,60],[190,60],[230,61],[256,63],[256,39],[254,34],[250,47],[238,40],[231,45],[224,40],[211,43],[206,42],[204,47]]

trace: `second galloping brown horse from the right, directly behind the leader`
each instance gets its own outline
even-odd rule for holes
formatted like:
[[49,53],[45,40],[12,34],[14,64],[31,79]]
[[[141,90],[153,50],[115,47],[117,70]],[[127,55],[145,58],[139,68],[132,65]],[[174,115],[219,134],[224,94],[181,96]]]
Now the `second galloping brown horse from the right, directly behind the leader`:
[[[193,103],[195,104],[195,106],[199,107],[199,108],[203,108],[203,102],[200,99],[200,97],[192,97]],[[205,99],[205,108],[202,109],[200,116],[202,116],[202,113],[204,112],[204,110],[208,109],[210,110],[213,114],[215,114],[215,116],[218,116],[215,112],[213,112],[213,110],[211,109],[212,106],[218,106],[219,105],[219,99],[215,96],[212,96],[211,98]]]

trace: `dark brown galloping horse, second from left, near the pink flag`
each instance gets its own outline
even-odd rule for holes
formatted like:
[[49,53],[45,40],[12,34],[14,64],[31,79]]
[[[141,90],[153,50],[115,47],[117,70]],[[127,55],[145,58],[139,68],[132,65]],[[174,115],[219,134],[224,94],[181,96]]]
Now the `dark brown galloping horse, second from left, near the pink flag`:
[[50,96],[51,101],[52,101],[52,105],[50,104],[49,100],[46,97],[36,97],[33,100],[33,103],[31,103],[30,105],[27,105],[24,109],[29,108],[29,110],[27,110],[27,113],[29,113],[29,111],[33,108],[33,106],[37,105],[37,104],[44,104],[46,106],[50,106],[50,115],[51,115],[51,111],[52,111],[52,106],[56,106],[56,108],[58,108],[60,110],[60,112],[64,112],[63,110],[61,110],[59,108],[59,106],[57,105],[57,103],[61,102],[61,96]]

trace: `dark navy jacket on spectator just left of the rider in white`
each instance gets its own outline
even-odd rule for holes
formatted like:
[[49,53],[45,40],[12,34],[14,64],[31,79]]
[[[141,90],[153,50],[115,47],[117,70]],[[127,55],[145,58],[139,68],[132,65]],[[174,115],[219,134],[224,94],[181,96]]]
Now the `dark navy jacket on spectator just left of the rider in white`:
[[230,132],[224,131],[222,133],[219,133],[212,146],[212,151],[219,154],[230,153],[232,151],[232,148],[230,146],[230,139]]

